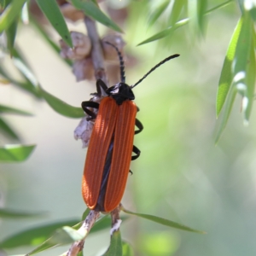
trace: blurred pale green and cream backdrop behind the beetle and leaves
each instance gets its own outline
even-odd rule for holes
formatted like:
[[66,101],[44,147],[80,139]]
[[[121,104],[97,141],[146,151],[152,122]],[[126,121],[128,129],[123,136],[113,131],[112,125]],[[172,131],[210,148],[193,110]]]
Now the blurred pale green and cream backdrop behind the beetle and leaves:
[[[172,37],[137,47],[163,26],[159,22],[158,27],[147,28],[146,2],[129,3],[125,51],[138,63],[126,68],[126,82],[135,83],[168,55],[181,56],[134,89],[140,108],[137,118],[144,125],[135,145],[142,154],[131,164],[133,175],[122,203],[129,210],[169,218],[205,230],[207,235],[131,217],[121,226],[122,237],[131,242],[136,255],[256,255],[254,109],[249,126],[243,126],[241,99],[237,97],[226,130],[218,144],[214,143],[218,79],[240,10],[231,3],[208,15],[204,37],[196,37],[189,26],[183,26]],[[84,30],[83,24],[71,27]],[[106,32],[101,25],[99,29]],[[20,27],[16,42],[49,93],[79,107],[96,90],[93,83],[77,83],[70,68],[30,26]],[[73,139],[79,119],[67,119],[46,102],[37,102],[10,85],[0,86],[0,102],[34,114],[6,119],[23,143],[37,144],[26,162],[1,164],[1,204],[20,211],[48,212],[45,218],[2,220],[0,240],[46,222],[81,218],[86,208],[81,196],[86,149]],[[100,255],[101,248],[108,247],[108,234],[106,230],[100,236],[89,236],[86,255]],[[29,250],[19,247],[8,253]],[[64,250],[61,247],[39,255],[57,255]]]

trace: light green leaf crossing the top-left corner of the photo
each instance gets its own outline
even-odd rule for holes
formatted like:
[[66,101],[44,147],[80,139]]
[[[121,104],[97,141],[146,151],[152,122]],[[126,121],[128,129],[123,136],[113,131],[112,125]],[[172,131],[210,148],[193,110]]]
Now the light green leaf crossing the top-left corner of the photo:
[[20,15],[24,3],[26,3],[26,0],[13,1],[8,5],[0,16],[0,33],[12,25],[14,20]]

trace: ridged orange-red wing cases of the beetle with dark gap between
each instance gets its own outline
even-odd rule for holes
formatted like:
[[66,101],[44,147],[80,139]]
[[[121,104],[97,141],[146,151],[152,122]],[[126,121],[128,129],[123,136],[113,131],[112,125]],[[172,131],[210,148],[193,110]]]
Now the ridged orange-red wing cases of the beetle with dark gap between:
[[84,201],[90,209],[111,212],[122,199],[131,163],[136,114],[137,107],[131,101],[119,106],[112,97],[105,97],[100,103],[82,183]]

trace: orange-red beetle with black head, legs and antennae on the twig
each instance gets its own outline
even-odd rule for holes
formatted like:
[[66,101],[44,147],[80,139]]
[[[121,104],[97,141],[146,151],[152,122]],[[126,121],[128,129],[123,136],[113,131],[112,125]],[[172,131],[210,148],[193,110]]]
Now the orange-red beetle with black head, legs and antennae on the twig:
[[[125,84],[122,55],[115,45],[110,45],[119,55],[121,82],[108,88],[101,79],[98,79],[96,95],[102,96],[101,90],[104,90],[108,96],[104,97],[100,104],[82,102],[84,112],[89,115],[88,119],[95,119],[84,164],[82,195],[87,207],[98,212],[111,212],[119,206],[128,174],[131,172],[131,160],[137,159],[140,155],[140,150],[133,146],[133,137],[143,130],[143,125],[136,119],[138,108],[132,102],[135,96],[131,89],[155,68],[179,56],[171,55],[160,61],[136,84],[129,86]],[[98,108],[98,113],[93,113],[90,108]],[[136,155],[131,156],[132,152]]]

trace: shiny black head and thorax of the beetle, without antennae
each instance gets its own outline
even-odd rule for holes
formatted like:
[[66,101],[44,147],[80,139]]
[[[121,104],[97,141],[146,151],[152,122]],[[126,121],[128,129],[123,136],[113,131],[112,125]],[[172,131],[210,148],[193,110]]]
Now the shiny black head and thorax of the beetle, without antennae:
[[125,83],[115,84],[106,90],[108,96],[112,96],[118,105],[121,105],[126,100],[133,101],[135,96],[131,90],[131,86]]

